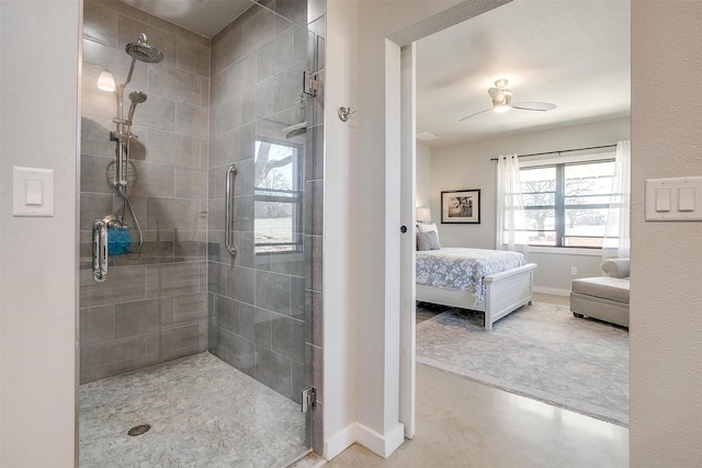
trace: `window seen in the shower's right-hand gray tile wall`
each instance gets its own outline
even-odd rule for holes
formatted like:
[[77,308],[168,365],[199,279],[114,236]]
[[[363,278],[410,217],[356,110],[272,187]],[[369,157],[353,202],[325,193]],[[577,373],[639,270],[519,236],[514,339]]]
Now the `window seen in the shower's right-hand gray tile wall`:
[[254,158],[256,253],[303,250],[303,147],[259,139]]

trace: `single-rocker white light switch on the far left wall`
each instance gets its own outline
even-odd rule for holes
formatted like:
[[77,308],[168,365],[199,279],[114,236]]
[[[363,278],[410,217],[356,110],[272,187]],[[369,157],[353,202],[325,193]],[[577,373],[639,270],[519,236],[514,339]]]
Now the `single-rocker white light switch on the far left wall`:
[[12,168],[12,216],[54,216],[54,170]]

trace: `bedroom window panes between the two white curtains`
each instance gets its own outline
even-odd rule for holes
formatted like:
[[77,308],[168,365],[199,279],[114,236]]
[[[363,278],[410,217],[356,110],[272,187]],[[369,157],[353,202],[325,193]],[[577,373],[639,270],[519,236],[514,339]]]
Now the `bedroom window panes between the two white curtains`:
[[530,246],[601,248],[614,160],[520,169]]

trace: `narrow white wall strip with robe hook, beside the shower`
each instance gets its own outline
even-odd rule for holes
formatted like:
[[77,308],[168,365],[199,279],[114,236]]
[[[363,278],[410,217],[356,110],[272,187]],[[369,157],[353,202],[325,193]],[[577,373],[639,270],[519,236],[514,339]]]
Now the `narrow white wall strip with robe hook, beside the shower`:
[[[333,28],[330,25],[333,25]],[[333,457],[355,441],[356,408],[356,237],[354,191],[358,118],[337,116],[340,106],[358,109],[359,5],[327,1],[325,87],[324,237],[324,434],[325,455]]]

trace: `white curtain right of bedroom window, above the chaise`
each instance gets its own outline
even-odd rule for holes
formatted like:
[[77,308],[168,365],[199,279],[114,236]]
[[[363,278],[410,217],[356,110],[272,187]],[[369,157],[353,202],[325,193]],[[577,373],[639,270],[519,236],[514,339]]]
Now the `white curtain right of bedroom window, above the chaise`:
[[629,259],[631,248],[631,195],[632,195],[631,141],[618,141],[614,160],[612,195],[604,225],[602,260]]

